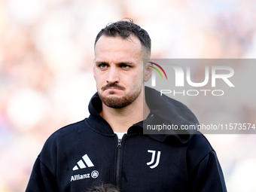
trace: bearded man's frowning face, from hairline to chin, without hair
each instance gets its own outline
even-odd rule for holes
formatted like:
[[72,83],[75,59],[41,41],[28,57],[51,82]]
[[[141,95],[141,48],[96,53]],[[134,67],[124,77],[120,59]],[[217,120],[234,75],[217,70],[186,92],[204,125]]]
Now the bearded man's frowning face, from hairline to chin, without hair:
[[132,41],[102,35],[95,46],[93,75],[102,102],[111,108],[123,108],[142,98],[142,45]]

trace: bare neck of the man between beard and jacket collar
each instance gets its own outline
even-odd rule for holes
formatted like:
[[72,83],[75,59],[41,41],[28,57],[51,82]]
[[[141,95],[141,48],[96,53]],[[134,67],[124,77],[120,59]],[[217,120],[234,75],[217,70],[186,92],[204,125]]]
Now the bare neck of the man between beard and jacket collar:
[[112,130],[118,133],[126,133],[130,126],[148,117],[150,109],[145,102],[135,101],[124,108],[109,108],[102,103],[100,115],[109,123]]

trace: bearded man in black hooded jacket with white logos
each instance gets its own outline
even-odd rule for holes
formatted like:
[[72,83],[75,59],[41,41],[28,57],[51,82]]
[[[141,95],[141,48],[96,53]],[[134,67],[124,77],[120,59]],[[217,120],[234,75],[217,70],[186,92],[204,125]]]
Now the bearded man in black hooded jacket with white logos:
[[118,191],[227,191],[215,151],[202,134],[143,134],[144,123],[196,124],[183,104],[144,82],[151,78],[148,33],[111,23],[95,41],[97,93],[90,117],[53,133],[26,191],[81,191],[114,184]]

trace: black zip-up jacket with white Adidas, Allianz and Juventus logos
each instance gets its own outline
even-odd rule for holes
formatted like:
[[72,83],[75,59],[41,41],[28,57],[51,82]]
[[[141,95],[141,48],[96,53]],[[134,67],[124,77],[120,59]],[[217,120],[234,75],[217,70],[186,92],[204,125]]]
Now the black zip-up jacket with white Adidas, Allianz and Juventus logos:
[[[178,126],[198,123],[181,102],[148,87],[145,96],[154,114],[148,123],[156,119]],[[85,192],[102,182],[114,184],[120,192],[227,191],[215,151],[202,134],[144,135],[139,122],[118,140],[99,115],[102,102],[97,93],[90,100],[89,111],[90,117],[47,139],[26,192]]]

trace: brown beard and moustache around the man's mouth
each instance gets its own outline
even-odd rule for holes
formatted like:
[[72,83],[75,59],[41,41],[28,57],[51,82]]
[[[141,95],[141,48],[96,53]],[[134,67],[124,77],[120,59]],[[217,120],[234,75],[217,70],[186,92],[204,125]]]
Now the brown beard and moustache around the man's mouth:
[[[102,87],[102,90],[105,90],[109,87],[119,88],[121,90],[125,90],[125,87],[120,87],[117,84],[107,84],[105,87]],[[102,93],[98,91],[99,98],[102,102],[110,108],[124,108],[127,105],[130,105],[134,102],[139,94],[142,92],[142,87],[138,87],[133,93],[129,93],[126,96],[117,97],[117,96],[103,96]],[[109,92],[110,94],[114,94],[113,91]]]

